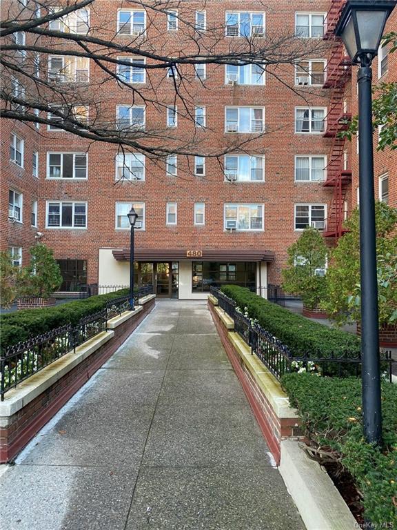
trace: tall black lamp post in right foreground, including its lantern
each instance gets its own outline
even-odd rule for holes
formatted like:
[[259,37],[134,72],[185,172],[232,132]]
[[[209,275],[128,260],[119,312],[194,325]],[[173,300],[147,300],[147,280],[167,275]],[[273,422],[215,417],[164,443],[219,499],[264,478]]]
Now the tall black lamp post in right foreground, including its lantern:
[[387,17],[397,0],[347,0],[335,28],[358,68],[358,150],[360,186],[361,360],[365,439],[382,442],[380,402],[378,279],[372,145],[372,59],[377,55]]

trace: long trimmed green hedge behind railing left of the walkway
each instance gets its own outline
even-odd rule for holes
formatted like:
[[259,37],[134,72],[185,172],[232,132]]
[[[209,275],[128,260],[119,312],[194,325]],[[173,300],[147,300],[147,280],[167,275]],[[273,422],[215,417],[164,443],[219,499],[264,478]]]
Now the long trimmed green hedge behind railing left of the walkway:
[[86,300],[66,302],[55,307],[42,309],[23,309],[15,313],[1,315],[1,349],[12,344],[28,340],[35,335],[41,335],[64,324],[77,324],[86,315],[101,311],[108,300],[128,295],[128,289],[121,289],[114,293],[98,295]]

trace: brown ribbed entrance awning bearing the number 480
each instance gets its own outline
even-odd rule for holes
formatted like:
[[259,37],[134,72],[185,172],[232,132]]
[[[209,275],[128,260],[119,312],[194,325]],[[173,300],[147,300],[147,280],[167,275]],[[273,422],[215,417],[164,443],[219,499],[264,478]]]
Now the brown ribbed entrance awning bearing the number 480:
[[[130,248],[116,249],[113,256],[117,261],[130,261]],[[258,248],[134,248],[134,259],[136,262],[272,262],[274,252]]]

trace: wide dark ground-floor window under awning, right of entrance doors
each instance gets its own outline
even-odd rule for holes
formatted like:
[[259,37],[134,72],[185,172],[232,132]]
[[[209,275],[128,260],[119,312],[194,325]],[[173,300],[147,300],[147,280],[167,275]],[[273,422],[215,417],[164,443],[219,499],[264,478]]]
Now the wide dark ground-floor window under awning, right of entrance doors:
[[210,286],[234,284],[255,289],[256,263],[192,262],[192,291],[203,293]]

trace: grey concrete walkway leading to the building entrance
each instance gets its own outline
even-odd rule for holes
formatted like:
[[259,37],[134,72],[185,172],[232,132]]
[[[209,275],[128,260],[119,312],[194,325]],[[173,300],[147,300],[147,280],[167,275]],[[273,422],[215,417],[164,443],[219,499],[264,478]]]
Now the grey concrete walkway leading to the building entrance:
[[0,478],[1,530],[305,527],[204,302],[161,301]]

